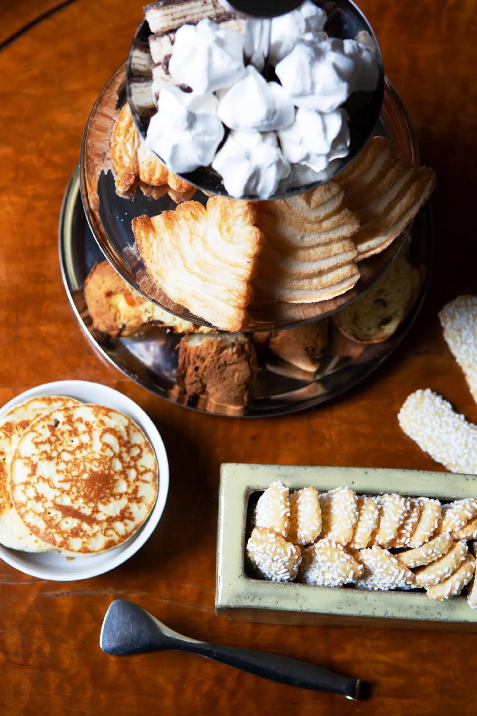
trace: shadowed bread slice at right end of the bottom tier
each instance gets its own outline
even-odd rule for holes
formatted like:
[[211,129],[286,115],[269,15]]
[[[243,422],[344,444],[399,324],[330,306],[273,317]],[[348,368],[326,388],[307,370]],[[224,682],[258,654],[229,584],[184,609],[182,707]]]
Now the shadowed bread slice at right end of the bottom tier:
[[415,298],[420,274],[405,256],[398,256],[388,271],[350,306],[333,314],[347,338],[358,343],[380,343],[398,329]]

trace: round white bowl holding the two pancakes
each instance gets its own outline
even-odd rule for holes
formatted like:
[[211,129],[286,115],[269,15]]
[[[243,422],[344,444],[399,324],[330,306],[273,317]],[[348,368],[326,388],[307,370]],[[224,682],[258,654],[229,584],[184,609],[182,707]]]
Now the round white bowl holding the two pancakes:
[[0,418],[15,405],[19,405],[19,403],[38,395],[67,395],[82,402],[106,405],[114,408],[114,410],[124,412],[124,415],[132,418],[149,437],[156,453],[157,464],[159,465],[159,493],[154,508],[152,508],[152,512],[144,525],[127,542],[107,552],[67,559],[65,555],[55,552],[34,554],[20,552],[0,545],[0,558],[11,564],[15,569],[41,579],[73,581],[104,574],[104,572],[114,569],[129,557],[132,557],[151,536],[152,531],[154,531],[159,522],[166,503],[167,491],[169,490],[169,463],[167,463],[164,443],[150,417],[134,401],[105,385],[83,380],[60,380],[26,390],[26,392],[17,395],[16,398],[0,409]]

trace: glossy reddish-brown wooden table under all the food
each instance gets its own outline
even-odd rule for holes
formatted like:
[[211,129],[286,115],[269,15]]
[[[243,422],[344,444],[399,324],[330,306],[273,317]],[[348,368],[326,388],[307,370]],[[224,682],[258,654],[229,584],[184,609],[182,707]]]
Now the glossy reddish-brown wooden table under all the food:
[[[62,285],[58,215],[87,115],[127,55],[141,2],[72,2],[8,42],[55,3],[11,5],[0,9],[0,43],[7,41],[0,52],[0,401],[66,378],[121,390],[159,427],[171,487],[152,538],[109,574],[59,584],[0,562],[1,715],[475,714],[477,634],[244,624],[215,616],[214,596],[220,463],[439,470],[396,420],[405,397],[420,387],[437,390],[477,421],[436,318],[445,301],[477,289],[476,3],[361,1],[415,123],[423,161],[438,174],[436,271],[420,319],[377,374],[332,405],[272,420],[182,410],[92,352]],[[188,654],[107,657],[99,629],[119,596],[197,639],[268,649],[360,677],[373,684],[372,697],[352,703],[295,690]]]

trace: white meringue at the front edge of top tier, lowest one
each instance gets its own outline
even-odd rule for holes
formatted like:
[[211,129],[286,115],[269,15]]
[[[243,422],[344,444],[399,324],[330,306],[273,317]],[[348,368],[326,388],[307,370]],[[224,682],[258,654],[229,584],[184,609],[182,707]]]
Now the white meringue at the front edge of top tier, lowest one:
[[275,132],[232,131],[217,152],[212,168],[221,176],[231,196],[272,196],[278,183],[290,174]]

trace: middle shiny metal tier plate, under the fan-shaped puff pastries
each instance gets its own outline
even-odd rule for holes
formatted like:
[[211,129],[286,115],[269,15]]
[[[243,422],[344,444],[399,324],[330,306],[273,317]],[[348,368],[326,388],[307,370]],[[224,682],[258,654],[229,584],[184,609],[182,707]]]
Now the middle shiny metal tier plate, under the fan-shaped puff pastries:
[[[204,319],[194,316],[184,306],[174,303],[149,277],[139,256],[132,233],[132,219],[142,214],[155,216],[176,207],[169,195],[159,199],[145,196],[137,188],[134,198],[119,197],[114,188],[109,139],[119,108],[126,102],[125,63],[119,67],[99,95],[94,105],[82,141],[79,161],[81,195],[84,211],[94,238],[109,263],[127,283],[144,298],[153,301],[166,311],[202,326]],[[385,134],[400,152],[418,162],[418,145],[405,112],[403,103],[386,79],[383,107],[375,134]],[[207,203],[207,195],[197,190],[195,201]],[[247,311],[250,321],[247,331],[270,331],[311,323],[325,318],[353,301],[369,289],[388,268],[405,243],[408,229],[396,238],[382,253],[360,261],[360,280],[353,289],[341,296],[310,304],[292,304],[261,297],[254,299]]]

